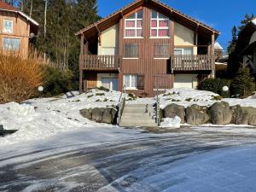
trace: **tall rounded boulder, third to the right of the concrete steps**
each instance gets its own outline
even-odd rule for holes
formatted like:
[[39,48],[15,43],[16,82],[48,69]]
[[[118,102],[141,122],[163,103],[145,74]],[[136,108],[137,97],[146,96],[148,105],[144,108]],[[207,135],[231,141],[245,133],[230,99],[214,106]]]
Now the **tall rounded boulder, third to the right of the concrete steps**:
[[228,102],[215,102],[209,108],[209,115],[213,125],[227,125],[232,120],[232,110]]

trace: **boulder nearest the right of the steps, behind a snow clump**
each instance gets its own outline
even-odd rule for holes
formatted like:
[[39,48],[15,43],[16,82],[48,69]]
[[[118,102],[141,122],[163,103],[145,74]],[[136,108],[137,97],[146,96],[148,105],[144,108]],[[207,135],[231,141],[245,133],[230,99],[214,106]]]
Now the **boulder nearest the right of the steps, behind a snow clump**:
[[174,119],[178,116],[181,119],[181,123],[185,122],[185,108],[183,106],[172,103],[164,108],[164,117]]

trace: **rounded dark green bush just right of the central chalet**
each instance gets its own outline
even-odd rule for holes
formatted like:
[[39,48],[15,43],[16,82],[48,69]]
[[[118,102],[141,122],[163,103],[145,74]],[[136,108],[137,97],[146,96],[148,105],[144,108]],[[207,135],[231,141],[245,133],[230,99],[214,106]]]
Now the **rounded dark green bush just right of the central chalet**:
[[230,80],[228,79],[205,79],[198,84],[199,90],[208,90],[217,93],[223,97],[230,97],[230,91],[224,92],[223,87],[230,87]]

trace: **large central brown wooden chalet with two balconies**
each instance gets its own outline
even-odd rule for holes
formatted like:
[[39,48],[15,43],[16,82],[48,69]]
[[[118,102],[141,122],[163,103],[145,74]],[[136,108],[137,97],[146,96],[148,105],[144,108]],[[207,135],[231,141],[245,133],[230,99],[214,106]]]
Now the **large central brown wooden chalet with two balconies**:
[[196,88],[214,78],[219,32],[157,0],[137,0],[76,33],[80,91],[99,86],[137,96]]

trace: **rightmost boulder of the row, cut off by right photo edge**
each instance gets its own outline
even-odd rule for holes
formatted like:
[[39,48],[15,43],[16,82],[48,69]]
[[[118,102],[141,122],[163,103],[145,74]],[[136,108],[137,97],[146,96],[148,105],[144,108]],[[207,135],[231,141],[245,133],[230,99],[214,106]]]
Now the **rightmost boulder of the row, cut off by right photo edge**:
[[233,112],[232,124],[236,125],[256,125],[256,108],[241,107],[240,105],[232,106]]

